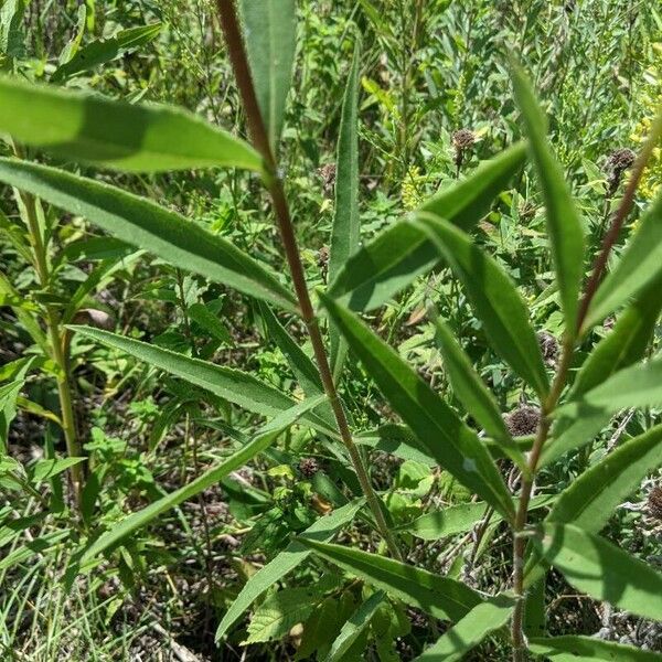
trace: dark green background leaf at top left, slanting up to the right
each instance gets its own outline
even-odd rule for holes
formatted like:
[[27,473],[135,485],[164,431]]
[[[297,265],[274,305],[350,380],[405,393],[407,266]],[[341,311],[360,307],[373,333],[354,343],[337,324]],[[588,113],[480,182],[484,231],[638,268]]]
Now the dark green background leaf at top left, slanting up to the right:
[[[85,19],[83,19],[85,20]],[[78,49],[74,56],[58,66],[51,81],[54,83],[71,78],[75,74],[86,72],[99,64],[110,62],[131,49],[138,49],[154,40],[161,31],[161,23],[139,25],[121,30],[116,36],[105,40],[95,40],[86,46]]]

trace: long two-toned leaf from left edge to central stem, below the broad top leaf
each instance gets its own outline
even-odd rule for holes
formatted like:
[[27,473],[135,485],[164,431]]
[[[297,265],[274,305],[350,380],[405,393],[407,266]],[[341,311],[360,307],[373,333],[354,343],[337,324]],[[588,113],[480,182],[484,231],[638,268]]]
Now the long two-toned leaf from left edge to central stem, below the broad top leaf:
[[[0,106],[0,115],[2,109]],[[217,235],[149,200],[55,168],[0,158],[0,181],[62,207],[118,239],[211,280],[296,312],[277,276]]]

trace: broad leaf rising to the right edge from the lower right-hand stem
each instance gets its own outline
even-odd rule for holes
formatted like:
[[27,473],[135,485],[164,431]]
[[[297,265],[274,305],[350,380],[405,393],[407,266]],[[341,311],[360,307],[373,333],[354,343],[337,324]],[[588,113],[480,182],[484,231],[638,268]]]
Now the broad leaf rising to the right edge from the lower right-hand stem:
[[613,511],[662,465],[662,426],[630,439],[576,478],[558,496],[548,522],[598,533]]

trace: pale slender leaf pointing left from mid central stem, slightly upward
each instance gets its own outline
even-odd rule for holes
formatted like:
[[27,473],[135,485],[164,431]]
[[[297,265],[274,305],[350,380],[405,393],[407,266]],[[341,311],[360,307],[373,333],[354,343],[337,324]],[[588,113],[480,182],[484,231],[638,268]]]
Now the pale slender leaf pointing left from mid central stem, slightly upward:
[[[81,333],[92,340],[99,342],[108,348],[119,350],[126,354],[135,356],[139,361],[163,370],[171,375],[185,380],[190,384],[200,386],[210,393],[213,393],[239,407],[249,412],[261,414],[263,416],[275,416],[289,409],[295,403],[280,391],[264,384],[248,373],[239,370],[224,367],[191,359],[183,354],[178,354],[170,350],[156,345],[103,331],[92,327],[71,327],[76,333]],[[306,417],[307,420],[310,416]],[[314,418],[322,428],[325,426],[321,420]],[[332,430],[329,434],[334,435]]]

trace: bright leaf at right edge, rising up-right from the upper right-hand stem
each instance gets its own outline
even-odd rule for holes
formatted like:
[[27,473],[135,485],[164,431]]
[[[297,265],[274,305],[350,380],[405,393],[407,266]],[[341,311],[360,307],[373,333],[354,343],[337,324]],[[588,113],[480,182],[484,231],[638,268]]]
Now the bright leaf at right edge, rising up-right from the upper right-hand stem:
[[[662,265],[662,194],[649,207],[641,226],[626,247],[613,270],[590,302],[584,330],[602,320],[651,281],[660,282]],[[659,292],[660,290],[658,290]]]

